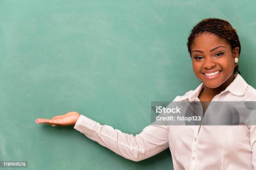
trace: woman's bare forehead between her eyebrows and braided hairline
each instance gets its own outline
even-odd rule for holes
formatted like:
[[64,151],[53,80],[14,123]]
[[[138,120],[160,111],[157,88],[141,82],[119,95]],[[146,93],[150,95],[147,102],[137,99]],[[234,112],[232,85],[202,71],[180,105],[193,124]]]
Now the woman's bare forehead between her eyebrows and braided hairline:
[[212,49],[214,47],[217,47],[218,45],[223,45],[226,48],[230,48],[230,45],[223,39],[220,39],[218,35],[204,32],[200,33],[195,37],[191,49]]

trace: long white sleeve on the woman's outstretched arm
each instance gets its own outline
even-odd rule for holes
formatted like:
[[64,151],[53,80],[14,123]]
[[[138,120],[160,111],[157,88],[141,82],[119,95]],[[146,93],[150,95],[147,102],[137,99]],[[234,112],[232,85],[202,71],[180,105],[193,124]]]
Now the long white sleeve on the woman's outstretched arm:
[[169,147],[168,128],[164,125],[149,125],[140,134],[134,136],[108,125],[100,125],[80,115],[74,129],[118,155],[133,161],[150,158]]

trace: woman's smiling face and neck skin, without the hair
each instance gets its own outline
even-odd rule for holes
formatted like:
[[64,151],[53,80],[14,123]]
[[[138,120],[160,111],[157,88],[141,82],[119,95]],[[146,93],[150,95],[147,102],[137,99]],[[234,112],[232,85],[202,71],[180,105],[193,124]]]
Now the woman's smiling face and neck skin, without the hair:
[[[213,98],[234,80],[235,58],[239,57],[239,47],[231,49],[218,35],[207,32],[195,38],[191,49],[194,73],[204,83],[200,97],[207,95]],[[209,96],[209,93],[212,95]]]

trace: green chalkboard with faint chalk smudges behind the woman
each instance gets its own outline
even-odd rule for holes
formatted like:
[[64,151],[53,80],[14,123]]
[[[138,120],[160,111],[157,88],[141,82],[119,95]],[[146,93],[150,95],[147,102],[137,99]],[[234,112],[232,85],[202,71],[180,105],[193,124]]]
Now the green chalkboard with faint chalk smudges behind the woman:
[[241,40],[239,70],[256,87],[256,1],[1,0],[0,161],[28,170],[169,170],[169,150],[140,162],[73,127],[36,125],[69,111],[138,134],[151,101],[200,84],[187,52],[204,18],[228,20]]

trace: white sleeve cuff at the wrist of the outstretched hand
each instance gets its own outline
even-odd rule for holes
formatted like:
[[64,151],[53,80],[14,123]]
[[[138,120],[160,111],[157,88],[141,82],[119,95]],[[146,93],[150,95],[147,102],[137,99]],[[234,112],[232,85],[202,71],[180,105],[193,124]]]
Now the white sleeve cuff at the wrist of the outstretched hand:
[[80,115],[77,119],[76,124],[74,125],[74,129],[78,130],[80,133],[83,133],[84,135],[90,138],[96,124],[97,122],[95,122],[94,120],[84,115]]

